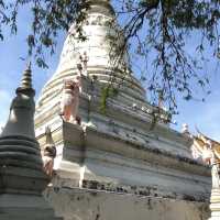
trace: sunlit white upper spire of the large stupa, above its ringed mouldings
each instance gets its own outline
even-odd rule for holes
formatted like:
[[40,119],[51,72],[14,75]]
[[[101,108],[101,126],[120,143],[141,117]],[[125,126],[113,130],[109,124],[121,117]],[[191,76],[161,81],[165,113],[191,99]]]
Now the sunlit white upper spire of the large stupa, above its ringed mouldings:
[[[85,52],[89,56],[88,67],[111,69],[113,63],[113,52],[123,37],[119,37],[117,18],[109,0],[87,0],[88,10],[86,21],[81,24],[86,41],[79,41],[76,33],[75,23],[68,31],[67,40],[61,56],[57,73],[76,69],[78,54]],[[112,38],[116,38],[116,41]],[[125,59],[125,57],[122,57]],[[125,62],[122,62],[125,63]],[[107,76],[108,77],[108,76]]]

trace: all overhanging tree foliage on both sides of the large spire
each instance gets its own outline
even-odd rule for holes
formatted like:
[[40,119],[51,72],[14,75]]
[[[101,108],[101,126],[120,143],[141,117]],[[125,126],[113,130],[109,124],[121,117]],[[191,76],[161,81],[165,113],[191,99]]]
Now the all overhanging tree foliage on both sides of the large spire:
[[[4,38],[4,26],[16,34],[21,7],[25,7],[32,14],[32,31],[26,42],[29,54],[34,55],[38,66],[47,66],[45,48],[53,54],[59,31],[68,31],[70,24],[75,24],[76,36],[81,41],[86,40],[81,24],[86,20],[89,0],[0,0],[1,41]],[[153,100],[158,99],[160,91],[164,103],[175,112],[176,94],[190,100],[195,85],[202,89],[206,87],[209,82],[208,75],[201,74],[200,67],[206,61],[205,43],[212,46],[213,55],[217,54],[219,0],[122,0],[117,1],[116,10],[119,21],[123,22],[119,35],[114,37],[118,40],[121,38],[121,32],[124,34],[123,43],[118,45],[116,66],[121,56],[130,51],[131,57],[128,59],[131,61],[131,66],[135,66],[135,61],[142,64],[138,65],[143,67],[140,72],[143,72],[142,78]],[[200,41],[195,45],[196,56],[191,56],[186,51],[186,40],[193,37],[195,31],[199,33]],[[102,107],[106,106],[109,94],[111,89],[106,88]]]

